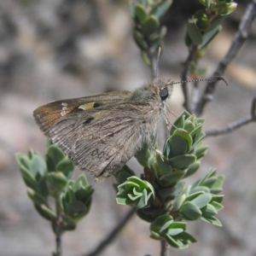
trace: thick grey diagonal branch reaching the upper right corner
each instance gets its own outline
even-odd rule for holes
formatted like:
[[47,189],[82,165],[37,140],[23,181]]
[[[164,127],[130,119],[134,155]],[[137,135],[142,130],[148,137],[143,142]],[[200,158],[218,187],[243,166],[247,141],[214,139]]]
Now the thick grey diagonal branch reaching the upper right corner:
[[[230,61],[232,61],[239,49],[241,49],[242,44],[247,40],[250,26],[253,23],[253,20],[256,16],[256,0],[252,0],[251,3],[248,4],[247,10],[245,12],[245,15],[241,18],[241,23],[239,26],[238,31],[236,32],[235,38],[232,41],[232,44],[230,45],[230,49],[228,53],[224,56],[224,59],[219,62],[219,65],[212,75],[212,77],[219,77],[224,73],[224,70],[226,67],[230,64]],[[204,91],[204,94],[201,96],[201,101],[198,102],[195,114],[197,116],[201,115],[203,108],[207,104],[207,102],[212,101],[213,99],[213,92],[215,90],[217,82],[212,81],[207,84],[207,88]]]

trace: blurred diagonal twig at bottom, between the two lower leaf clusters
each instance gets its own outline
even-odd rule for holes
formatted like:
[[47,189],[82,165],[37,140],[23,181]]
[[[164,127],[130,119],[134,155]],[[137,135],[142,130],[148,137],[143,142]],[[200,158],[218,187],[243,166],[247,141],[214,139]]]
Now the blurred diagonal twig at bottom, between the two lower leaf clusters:
[[84,256],[96,256],[96,255],[99,255],[100,253],[102,253],[104,248],[107,247],[108,244],[110,244],[113,241],[113,239],[119,234],[120,230],[123,229],[125,224],[134,215],[136,210],[137,210],[137,208],[135,208],[135,207],[131,208],[131,210],[126,214],[125,218],[123,218],[119,222],[119,224],[108,234],[108,236],[102,240],[102,242],[99,244],[99,246],[96,247],[96,249],[93,252],[84,254]]

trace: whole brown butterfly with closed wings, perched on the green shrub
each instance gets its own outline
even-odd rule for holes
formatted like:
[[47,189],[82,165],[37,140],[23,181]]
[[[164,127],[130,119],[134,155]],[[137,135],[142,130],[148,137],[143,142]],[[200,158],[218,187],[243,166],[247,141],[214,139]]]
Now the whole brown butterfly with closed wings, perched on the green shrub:
[[80,169],[102,181],[150,145],[172,83],[156,79],[133,92],[49,102],[33,115],[44,134]]

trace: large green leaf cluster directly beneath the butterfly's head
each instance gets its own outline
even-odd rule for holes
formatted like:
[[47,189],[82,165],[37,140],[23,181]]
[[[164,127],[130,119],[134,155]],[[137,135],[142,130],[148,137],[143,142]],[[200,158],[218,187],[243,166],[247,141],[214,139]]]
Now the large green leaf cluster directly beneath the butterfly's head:
[[[187,247],[195,238],[185,232],[186,224],[181,221],[202,220],[220,226],[217,215],[223,208],[221,202],[224,177],[210,169],[192,185],[183,181],[201,166],[207,153],[207,146],[201,140],[204,119],[197,119],[186,111],[177,117],[170,135],[166,138],[163,151],[143,148],[136,154],[144,166],[140,178],[125,166],[115,177],[117,202],[137,207],[137,215],[151,223],[150,230],[154,239],[165,240],[172,247]],[[125,177],[127,180],[125,181]]]

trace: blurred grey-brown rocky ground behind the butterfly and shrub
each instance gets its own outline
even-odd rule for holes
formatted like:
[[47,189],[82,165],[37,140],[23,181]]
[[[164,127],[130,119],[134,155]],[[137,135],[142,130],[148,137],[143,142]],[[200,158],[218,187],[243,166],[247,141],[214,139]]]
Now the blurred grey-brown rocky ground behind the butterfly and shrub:
[[[183,44],[185,22],[195,12],[197,2],[174,1],[163,20],[168,35],[160,58],[160,77],[180,80],[181,64],[188,55]],[[247,2],[238,2],[238,9],[226,20],[202,60],[201,65],[208,67],[208,76],[229,48]],[[134,90],[148,82],[150,72],[132,41],[131,26],[126,1],[0,1],[1,255],[51,255],[55,248],[50,224],[39,217],[26,196],[15,162],[15,153],[25,153],[29,148],[44,154],[45,137],[35,124],[32,111],[55,99]],[[229,87],[219,83],[214,101],[205,109],[207,131],[249,114],[256,96],[255,36],[254,22],[250,38],[224,74]],[[177,85],[170,108],[179,114],[182,103]],[[218,215],[224,227],[202,221],[189,224],[189,232],[198,242],[189,249],[173,249],[172,255],[256,254],[255,131],[255,124],[250,124],[205,140],[209,150],[197,177],[210,166],[226,176],[224,210]],[[131,160],[131,166],[138,173],[142,171],[135,160]],[[93,183],[92,177],[88,178],[95,189],[91,211],[77,230],[64,235],[64,255],[88,253],[128,210],[116,205],[113,177],[103,183]],[[188,183],[192,181],[191,178]],[[148,236],[148,224],[135,216],[102,255],[159,255],[159,242]]]

